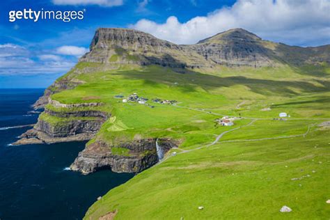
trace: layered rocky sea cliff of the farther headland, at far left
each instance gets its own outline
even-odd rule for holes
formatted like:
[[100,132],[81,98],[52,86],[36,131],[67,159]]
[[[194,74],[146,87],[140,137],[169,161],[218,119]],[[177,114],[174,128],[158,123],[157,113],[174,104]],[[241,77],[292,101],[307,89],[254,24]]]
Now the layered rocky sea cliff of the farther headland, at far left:
[[[72,107],[89,107],[101,104],[83,103],[65,105],[50,100],[51,104],[56,104],[64,108]],[[54,107],[55,107],[54,106]],[[31,144],[31,143],[56,143],[66,141],[88,141],[95,136],[100,127],[109,116],[110,113],[102,111],[52,111],[45,109],[43,116],[38,118],[38,123],[20,136],[21,139],[13,143],[14,145]],[[49,122],[45,116],[58,118],[58,122]],[[65,118],[65,120],[61,120]]]

